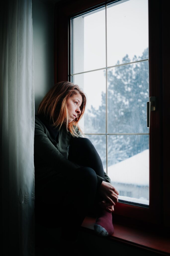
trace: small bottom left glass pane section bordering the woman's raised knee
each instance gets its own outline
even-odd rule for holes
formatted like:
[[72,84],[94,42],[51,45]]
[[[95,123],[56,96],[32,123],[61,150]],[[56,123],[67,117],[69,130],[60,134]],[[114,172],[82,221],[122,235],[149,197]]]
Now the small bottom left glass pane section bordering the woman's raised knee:
[[105,135],[86,135],[86,138],[89,138],[89,140],[93,143],[95,146],[102,164],[103,168],[106,170],[106,136]]

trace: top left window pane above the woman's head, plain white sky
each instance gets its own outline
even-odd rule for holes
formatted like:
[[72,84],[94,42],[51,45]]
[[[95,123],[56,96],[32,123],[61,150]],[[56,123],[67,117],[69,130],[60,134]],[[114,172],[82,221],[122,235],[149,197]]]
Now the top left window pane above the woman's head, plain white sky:
[[106,67],[105,8],[73,19],[73,73]]

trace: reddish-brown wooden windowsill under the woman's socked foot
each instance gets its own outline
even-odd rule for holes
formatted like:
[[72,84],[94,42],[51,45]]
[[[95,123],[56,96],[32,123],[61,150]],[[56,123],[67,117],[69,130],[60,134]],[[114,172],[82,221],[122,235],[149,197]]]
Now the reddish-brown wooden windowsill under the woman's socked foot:
[[[82,223],[82,229],[94,230],[95,220],[94,217],[86,217]],[[161,232],[156,233],[155,231],[145,231],[135,227],[125,227],[118,223],[113,223],[113,226],[114,233],[107,239],[130,244],[158,254],[170,255],[170,240]]]

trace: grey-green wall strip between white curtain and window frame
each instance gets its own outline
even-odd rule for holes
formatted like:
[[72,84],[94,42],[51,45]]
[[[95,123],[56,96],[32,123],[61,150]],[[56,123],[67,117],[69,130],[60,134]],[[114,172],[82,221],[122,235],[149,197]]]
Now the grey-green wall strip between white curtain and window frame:
[[35,114],[54,85],[54,4],[32,0]]

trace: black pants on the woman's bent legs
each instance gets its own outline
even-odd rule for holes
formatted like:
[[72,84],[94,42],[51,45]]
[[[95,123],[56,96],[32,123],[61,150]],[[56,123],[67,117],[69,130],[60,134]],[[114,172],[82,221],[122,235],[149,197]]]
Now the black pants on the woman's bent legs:
[[74,175],[63,170],[63,173],[67,173],[64,181],[58,176],[49,180],[42,198],[44,195],[51,218],[62,223],[61,237],[70,230],[74,240],[87,213],[95,209],[95,205],[101,200],[97,191],[96,174],[106,180],[100,156],[88,138],[72,137],[68,160],[77,163],[80,168],[74,170]]

